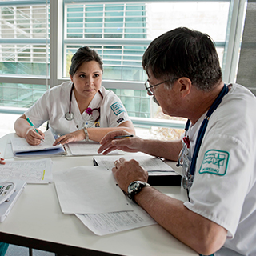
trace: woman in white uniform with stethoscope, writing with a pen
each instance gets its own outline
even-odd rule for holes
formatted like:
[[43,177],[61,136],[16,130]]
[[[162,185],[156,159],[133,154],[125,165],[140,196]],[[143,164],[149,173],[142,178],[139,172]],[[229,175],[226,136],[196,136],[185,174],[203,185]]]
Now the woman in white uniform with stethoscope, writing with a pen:
[[53,134],[61,135],[54,145],[83,139],[99,142],[111,130],[123,129],[134,134],[122,102],[102,86],[102,64],[95,50],[88,46],[79,48],[71,60],[71,82],[47,90],[16,120],[14,129],[18,136],[26,138],[30,145],[38,145],[44,138],[42,131],[36,133],[26,118],[35,127],[49,121]]

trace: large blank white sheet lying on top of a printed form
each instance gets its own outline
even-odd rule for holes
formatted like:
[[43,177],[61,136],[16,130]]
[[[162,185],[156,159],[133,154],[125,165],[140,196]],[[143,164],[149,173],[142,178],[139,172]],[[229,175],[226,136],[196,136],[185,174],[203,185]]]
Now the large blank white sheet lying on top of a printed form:
[[77,166],[54,173],[64,214],[102,214],[133,210],[114,175],[104,167]]

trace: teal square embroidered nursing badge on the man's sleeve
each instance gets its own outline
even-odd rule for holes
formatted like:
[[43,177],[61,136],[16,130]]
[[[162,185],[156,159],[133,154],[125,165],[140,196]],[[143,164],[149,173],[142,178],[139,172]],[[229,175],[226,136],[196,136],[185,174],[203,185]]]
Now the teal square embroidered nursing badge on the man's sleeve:
[[221,150],[208,150],[206,151],[202,160],[202,165],[199,174],[216,174],[225,175],[228,166],[230,154]]

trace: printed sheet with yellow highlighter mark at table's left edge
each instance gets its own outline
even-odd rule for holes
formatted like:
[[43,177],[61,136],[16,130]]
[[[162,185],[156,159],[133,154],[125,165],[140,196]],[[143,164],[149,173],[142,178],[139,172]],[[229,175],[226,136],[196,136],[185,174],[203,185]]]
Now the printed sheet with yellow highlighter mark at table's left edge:
[[5,165],[0,165],[0,178],[20,179],[26,183],[49,183],[53,181],[52,165],[50,158],[30,161],[6,160]]

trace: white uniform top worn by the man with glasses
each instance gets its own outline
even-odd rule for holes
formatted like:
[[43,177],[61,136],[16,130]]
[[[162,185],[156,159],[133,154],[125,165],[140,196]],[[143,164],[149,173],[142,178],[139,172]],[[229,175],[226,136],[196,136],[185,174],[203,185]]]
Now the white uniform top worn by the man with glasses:
[[[210,117],[190,202],[184,203],[227,230],[224,247],[215,256],[256,255],[255,110],[255,96],[233,84]],[[190,150],[194,150],[202,118],[188,131]]]

